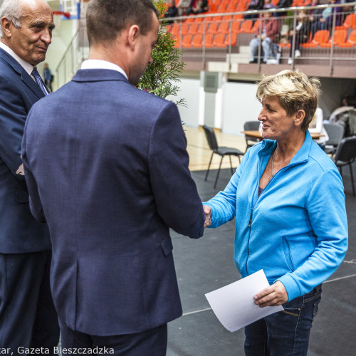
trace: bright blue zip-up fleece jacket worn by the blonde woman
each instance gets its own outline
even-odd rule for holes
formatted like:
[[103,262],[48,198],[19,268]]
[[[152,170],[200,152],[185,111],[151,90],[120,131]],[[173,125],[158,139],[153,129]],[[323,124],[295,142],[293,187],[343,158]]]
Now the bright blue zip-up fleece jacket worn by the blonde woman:
[[276,141],[251,147],[211,206],[216,228],[236,216],[236,268],[244,278],[260,269],[281,281],[288,300],[329,278],[347,251],[342,179],[307,132],[303,146],[258,197],[258,182]]

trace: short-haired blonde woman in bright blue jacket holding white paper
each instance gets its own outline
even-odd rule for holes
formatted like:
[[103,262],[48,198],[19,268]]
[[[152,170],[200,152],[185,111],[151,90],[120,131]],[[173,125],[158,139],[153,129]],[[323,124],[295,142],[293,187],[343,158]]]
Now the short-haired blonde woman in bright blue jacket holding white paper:
[[321,283],[347,251],[342,179],[308,132],[319,86],[298,70],[261,80],[264,140],[244,155],[224,192],[204,203],[206,226],[236,217],[234,260],[241,277],[266,273],[270,287],[255,303],[284,308],[245,328],[246,355],[307,354]]

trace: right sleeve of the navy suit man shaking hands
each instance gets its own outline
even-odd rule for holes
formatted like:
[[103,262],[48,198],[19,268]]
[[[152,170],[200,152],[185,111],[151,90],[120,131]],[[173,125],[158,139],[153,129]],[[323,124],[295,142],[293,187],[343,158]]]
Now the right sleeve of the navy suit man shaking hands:
[[158,214],[167,226],[194,239],[204,233],[205,215],[188,169],[187,140],[177,106],[167,103],[152,127],[149,170]]

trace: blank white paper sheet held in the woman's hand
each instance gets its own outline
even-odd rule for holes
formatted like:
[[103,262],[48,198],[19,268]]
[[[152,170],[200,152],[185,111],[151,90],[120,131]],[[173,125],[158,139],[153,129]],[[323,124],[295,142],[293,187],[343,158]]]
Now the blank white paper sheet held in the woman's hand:
[[282,305],[260,308],[255,304],[253,296],[268,286],[266,275],[261,270],[240,281],[206,293],[205,296],[216,318],[227,330],[233,332],[283,310]]

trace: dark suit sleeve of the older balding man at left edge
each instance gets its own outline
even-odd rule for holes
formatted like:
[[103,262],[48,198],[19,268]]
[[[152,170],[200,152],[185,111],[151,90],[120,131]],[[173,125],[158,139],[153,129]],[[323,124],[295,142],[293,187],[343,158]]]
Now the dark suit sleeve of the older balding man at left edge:
[[[16,174],[21,165],[21,140],[27,112],[19,89],[7,78],[0,76],[0,156],[18,179],[25,177]],[[6,95],[4,95],[6,93]]]

